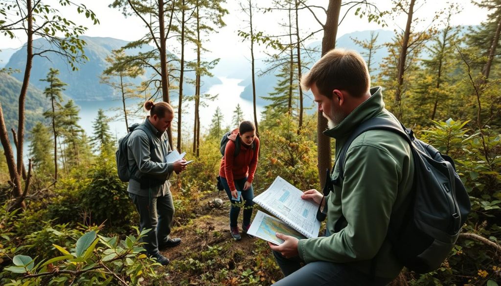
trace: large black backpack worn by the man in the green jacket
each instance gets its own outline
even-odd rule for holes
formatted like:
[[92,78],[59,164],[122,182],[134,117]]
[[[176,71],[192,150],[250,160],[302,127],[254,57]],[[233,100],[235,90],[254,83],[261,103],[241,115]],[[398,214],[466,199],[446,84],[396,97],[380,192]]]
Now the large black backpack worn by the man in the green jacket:
[[452,158],[416,139],[412,130],[402,124],[385,118],[369,119],[350,135],[336,162],[340,178],[344,178],[344,161],[350,144],[360,134],[374,129],[388,130],[404,138],[414,160],[414,182],[402,205],[406,208],[402,224],[395,225],[390,218],[388,227],[394,255],[409,270],[433,271],[452,250],[468,216],[471,208],[468,193]]

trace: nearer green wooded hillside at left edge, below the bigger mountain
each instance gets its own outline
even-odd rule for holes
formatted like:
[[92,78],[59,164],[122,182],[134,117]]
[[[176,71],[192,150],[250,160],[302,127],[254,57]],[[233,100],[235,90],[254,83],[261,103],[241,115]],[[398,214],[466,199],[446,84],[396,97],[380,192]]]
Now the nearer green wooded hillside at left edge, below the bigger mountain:
[[[6,120],[6,127],[11,135],[11,128],[18,129],[18,108],[19,92],[22,83],[16,78],[0,73],[0,102]],[[49,109],[49,101],[45,98],[43,92],[37,88],[28,88],[28,94],[25,102],[25,132],[31,130],[37,122],[48,122],[42,113]]]

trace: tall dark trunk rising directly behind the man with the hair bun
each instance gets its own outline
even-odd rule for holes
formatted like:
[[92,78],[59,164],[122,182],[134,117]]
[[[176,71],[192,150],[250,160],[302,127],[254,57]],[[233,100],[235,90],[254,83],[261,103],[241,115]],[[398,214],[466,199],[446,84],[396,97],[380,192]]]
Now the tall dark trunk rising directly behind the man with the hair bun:
[[[164,2],[158,0],[158,30],[160,33],[160,69],[162,73],[162,100],[170,104],[169,99],[169,69],[167,67],[167,45],[165,43],[165,20],[164,20]],[[153,35],[152,35],[153,36]],[[167,135],[169,137],[169,145],[172,146],[172,129],[167,128]]]

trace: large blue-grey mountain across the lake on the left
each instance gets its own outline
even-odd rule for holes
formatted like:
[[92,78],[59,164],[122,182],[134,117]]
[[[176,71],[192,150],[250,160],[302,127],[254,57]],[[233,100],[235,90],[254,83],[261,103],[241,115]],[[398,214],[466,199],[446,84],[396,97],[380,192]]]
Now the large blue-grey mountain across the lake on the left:
[[[74,100],[109,100],[114,98],[114,91],[111,87],[99,83],[99,76],[106,69],[108,64],[105,59],[108,55],[111,54],[112,50],[118,50],[121,47],[125,46],[128,42],[113,38],[98,38],[98,37],[81,37],[87,45],[84,48],[85,55],[89,58],[89,61],[84,64],[78,65],[78,71],[72,71],[70,65],[64,60],[62,57],[54,54],[47,53],[46,57],[35,57],[33,60],[33,68],[31,71],[30,77],[30,85],[44,89],[47,86],[46,82],[40,81],[41,79],[45,79],[47,73],[49,72],[49,68],[55,68],[60,70],[60,79],[67,83],[65,94]],[[50,44],[43,40],[37,39],[34,41],[35,49],[47,49],[50,47]],[[140,48],[126,50],[126,54],[134,55],[138,52],[147,52],[150,51],[152,47],[144,45]],[[21,73],[14,74],[13,77],[22,81],[24,76],[24,69],[26,66],[26,47],[21,48],[16,51],[12,57],[10,57],[9,63],[6,67],[19,69]],[[149,78],[151,72],[147,71],[147,75],[142,78],[131,79],[130,81],[139,84],[141,81],[144,81],[146,78]],[[193,75],[187,73],[187,78],[194,78]],[[204,82],[204,87],[208,89],[211,85],[220,83],[217,78],[202,78]],[[202,88],[202,92],[204,92]],[[185,85],[184,88],[185,94],[193,94],[194,87],[192,85]],[[171,100],[175,100],[177,98],[177,91],[172,90]]]

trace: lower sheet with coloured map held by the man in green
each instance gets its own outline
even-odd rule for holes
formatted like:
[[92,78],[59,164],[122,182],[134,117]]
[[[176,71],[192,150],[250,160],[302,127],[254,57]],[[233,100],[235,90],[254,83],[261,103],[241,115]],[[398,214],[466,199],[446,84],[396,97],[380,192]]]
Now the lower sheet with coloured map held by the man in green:
[[279,220],[273,216],[270,216],[261,210],[258,210],[258,213],[254,217],[252,224],[250,224],[247,233],[266,241],[270,241],[275,244],[282,244],[284,242],[283,239],[278,238],[276,233],[282,233],[285,235],[294,236],[298,239],[305,238],[304,235],[294,230],[292,227],[287,225],[282,220]]

